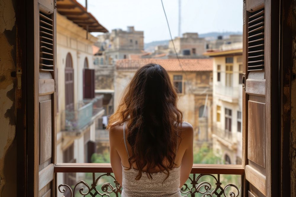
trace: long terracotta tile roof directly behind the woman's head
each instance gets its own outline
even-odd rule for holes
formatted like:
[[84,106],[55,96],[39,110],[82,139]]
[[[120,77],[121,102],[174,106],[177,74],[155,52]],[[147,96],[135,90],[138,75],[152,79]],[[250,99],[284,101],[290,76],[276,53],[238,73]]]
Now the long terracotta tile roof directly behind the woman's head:
[[[180,59],[184,71],[213,71],[212,59]],[[163,66],[167,71],[182,71],[178,59],[121,59],[116,61],[116,69],[138,69],[149,63]]]

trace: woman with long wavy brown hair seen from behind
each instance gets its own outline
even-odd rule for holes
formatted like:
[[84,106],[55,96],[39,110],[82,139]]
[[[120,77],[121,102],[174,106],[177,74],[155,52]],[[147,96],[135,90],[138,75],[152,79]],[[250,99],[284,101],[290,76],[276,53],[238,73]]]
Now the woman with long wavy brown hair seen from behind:
[[121,196],[181,196],[193,164],[193,128],[182,121],[162,66],[136,71],[107,129]]

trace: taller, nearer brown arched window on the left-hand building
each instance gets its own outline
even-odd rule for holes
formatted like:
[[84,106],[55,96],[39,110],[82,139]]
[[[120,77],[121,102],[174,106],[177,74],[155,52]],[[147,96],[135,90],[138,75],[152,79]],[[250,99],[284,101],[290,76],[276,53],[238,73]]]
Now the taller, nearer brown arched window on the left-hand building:
[[74,106],[74,70],[73,61],[70,53],[66,57],[65,66],[65,102],[66,109],[73,108]]

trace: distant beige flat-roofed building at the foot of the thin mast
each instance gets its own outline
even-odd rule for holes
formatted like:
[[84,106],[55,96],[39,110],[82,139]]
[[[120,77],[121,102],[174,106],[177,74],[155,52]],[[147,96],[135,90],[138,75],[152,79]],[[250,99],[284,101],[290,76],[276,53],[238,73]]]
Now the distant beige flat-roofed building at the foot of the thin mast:
[[[205,38],[199,38],[198,33],[184,33],[182,37],[176,37],[173,40],[176,51],[180,58],[200,58],[204,57],[203,53],[206,51]],[[173,43],[170,40],[168,48],[170,53],[175,56]]]

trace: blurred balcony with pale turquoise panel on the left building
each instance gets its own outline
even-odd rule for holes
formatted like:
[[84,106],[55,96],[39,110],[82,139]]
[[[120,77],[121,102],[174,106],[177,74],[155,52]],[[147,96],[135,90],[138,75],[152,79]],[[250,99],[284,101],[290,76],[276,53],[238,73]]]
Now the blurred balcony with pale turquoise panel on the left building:
[[65,130],[81,132],[91,125],[96,118],[104,114],[102,107],[103,96],[83,100],[76,105],[77,110],[65,110]]

